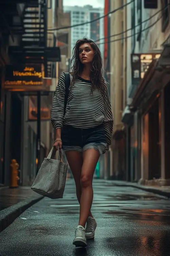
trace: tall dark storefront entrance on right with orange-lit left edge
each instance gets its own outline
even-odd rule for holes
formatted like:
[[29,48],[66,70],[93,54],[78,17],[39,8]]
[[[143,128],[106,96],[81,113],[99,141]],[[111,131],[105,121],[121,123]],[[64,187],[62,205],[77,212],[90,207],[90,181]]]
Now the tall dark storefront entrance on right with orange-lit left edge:
[[142,118],[142,179],[161,177],[161,146],[159,125],[159,98]]

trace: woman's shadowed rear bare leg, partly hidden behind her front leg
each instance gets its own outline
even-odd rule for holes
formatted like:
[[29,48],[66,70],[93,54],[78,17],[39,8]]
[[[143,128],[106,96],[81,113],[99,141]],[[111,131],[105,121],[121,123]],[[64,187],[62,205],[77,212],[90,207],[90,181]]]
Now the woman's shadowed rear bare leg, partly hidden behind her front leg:
[[[83,165],[83,154],[82,152],[78,151],[66,151],[65,152],[67,161],[69,163],[71,172],[73,174],[73,178],[75,181],[75,187],[76,187],[76,195],[78,202],[80,203],[80,198],[81,198],[81,170],[82,170],[82,165]],[[88,216],[92,217],[91,211],[89,211]]]

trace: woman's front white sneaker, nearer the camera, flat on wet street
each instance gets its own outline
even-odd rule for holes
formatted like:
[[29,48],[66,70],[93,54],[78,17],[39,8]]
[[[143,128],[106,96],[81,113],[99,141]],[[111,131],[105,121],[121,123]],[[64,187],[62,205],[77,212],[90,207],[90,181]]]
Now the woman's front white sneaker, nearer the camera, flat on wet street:
[[75,238],[73,240],[73,244],[76,247],[85,247],[87,246],[86,241],[86,230],[81,225],[75,228]]

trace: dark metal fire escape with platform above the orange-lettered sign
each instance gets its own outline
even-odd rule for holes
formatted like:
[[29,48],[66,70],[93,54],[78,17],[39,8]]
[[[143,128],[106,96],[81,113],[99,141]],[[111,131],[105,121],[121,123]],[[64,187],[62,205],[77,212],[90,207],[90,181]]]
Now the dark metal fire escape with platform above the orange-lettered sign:
[[19,46],[9,47],[11,63],[17,60],[23,64],[44,64],[45,76],[48,77],[51,63],[60,61],[60,48],[47,47],[47,0],[19,2],[24,2],[22,21],[20,25],[14,25],[13,32],[20,35],[21,41]]

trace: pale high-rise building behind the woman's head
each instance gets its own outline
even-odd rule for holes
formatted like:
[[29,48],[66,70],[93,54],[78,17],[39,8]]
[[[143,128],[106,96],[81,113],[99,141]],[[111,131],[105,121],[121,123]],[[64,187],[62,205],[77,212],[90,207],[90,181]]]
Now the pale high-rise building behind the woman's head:
[[[64,12],[69,12],[71,17],[71,26],[90,22],[98,17],[103,16],[102,8],[93,8],[91,5],[81,6],[64,6]],[[98,43],[100,38],[104,37],[103,18],[86,25],[71,28],[71,52],[78,39],[87,37]],[[100,41],[101,43],[102,41]],[[104,45],[99,44],[100,51],[103,55]]]

